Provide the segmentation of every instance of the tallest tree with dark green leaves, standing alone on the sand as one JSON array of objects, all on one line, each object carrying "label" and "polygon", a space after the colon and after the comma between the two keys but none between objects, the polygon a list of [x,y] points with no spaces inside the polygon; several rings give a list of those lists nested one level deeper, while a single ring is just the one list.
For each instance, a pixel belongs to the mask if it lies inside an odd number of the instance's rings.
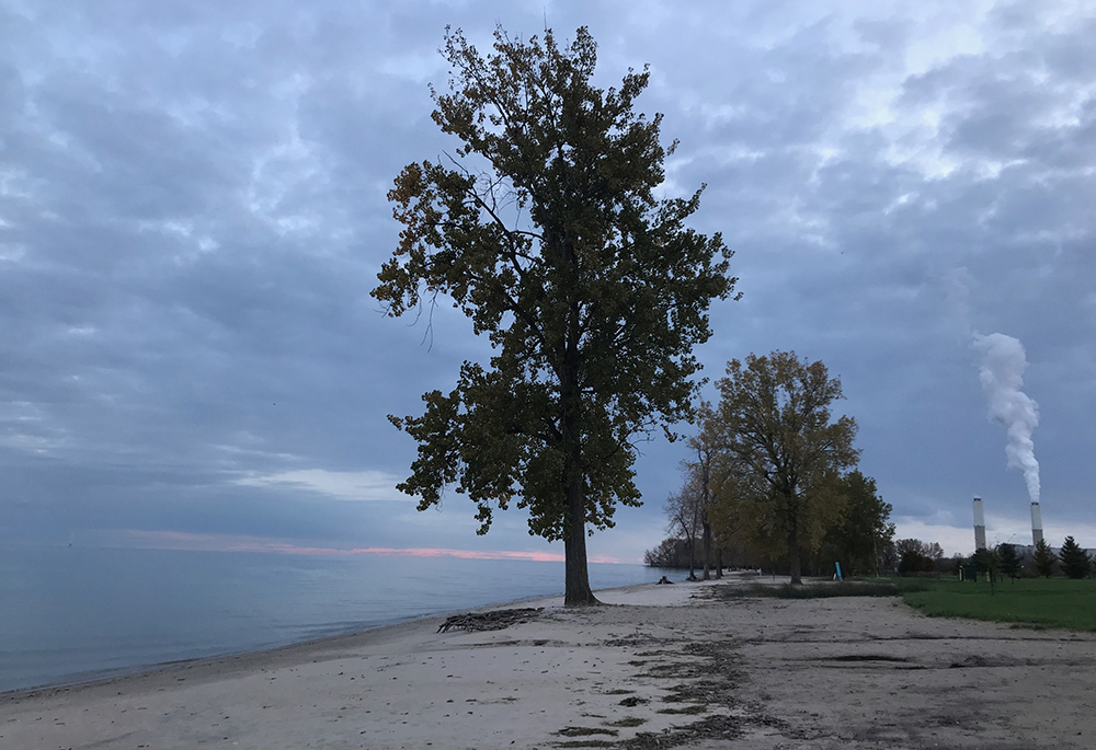
[{"label": "tallest tree with dark green leaves, standing alone on the sand", "polygon": [[495,354],[426,393],[422,416],[390,417],[419,442],[399,487],[425,509],[455,484],[480,533],[516,501],[530,533],[563,540],[567,603],[593,603],[587,524],[639,505],[637,434],[690,416],[693,347],[733,291],[731,253],[685,226],[700,191],[654,196],[673,147],[660,115],[633,111],[646,68],[596,88],[585,28],[564,48],[500,28],[487,57],[447,30],[443,56],[433,118],[459,145],[397,177],[403,229],[373,295],[391,315],[447,295]]}]

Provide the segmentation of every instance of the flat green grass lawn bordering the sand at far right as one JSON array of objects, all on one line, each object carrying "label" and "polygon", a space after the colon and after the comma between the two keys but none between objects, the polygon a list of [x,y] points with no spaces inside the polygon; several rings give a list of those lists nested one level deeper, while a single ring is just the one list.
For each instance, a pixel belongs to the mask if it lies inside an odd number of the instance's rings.
[{"label": "flat green grass lawn bordering the sand at far right", "polygon": [[991,592],[984,581],[941,580],[903,595],[905,603],[933,618],[971,618],[1096,632],[1096,580],[1023,578]]}]

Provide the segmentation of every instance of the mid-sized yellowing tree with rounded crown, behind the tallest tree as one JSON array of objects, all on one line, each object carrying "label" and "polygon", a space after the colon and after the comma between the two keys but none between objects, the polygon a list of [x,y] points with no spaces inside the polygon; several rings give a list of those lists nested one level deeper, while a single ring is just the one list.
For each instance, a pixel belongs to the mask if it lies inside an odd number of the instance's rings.
[{"label": "mid-sized yellowing tree with rounded crown, behind the tallest tree", "polygon": [[801,582],[800,552],[815,550],[843,516],[840,476],[857,462],[856,422],[833,419],[841,380],[794,351],[734,359],[717,383],[720,445],[729,458],[723,518],[788,555]]}]

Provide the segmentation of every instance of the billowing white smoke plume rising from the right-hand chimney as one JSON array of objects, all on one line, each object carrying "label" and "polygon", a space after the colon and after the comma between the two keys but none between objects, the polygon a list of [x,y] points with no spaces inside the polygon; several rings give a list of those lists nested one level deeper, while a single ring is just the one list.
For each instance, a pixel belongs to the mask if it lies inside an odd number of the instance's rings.
[{"label": "billowing white smoke plume rising from the right-hand chimney", "polygon": [[1005,454],[1009,469],[1024,472],[1028,495],[1039,501],[1039,462],[1031,432],[1039,425],[1039,405],[1024,391],[1027,355],[1018,338],[1003,333],[974,334],[973,348],[982,355],[979,379],[990,402],[990,419],[1008,432]]}]

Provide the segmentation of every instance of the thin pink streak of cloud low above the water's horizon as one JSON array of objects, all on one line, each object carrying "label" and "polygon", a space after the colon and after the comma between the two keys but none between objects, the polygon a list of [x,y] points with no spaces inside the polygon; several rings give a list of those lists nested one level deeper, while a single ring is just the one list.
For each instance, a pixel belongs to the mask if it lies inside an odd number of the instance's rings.
[{"label": "thin pink streak of cloud low above the water's horizon", "polygon": [[[562,563],[558,552],[537,550],[450,550],[446,547],[326,547],[305,546],[263,536],[239,536],[231,534],[203,534],[185,531],[140,529],[121,530],[121,539],[127,546],[151,547],[155,550],[191,550],[204,552],[271,552],[286,555],[316,555],[346,557],[354,555],[378,555],[387,557],[458,557],[460,559],[527,559],[541,563]],[[615,557],[592,555],[592,563],[619,563]]]}]

